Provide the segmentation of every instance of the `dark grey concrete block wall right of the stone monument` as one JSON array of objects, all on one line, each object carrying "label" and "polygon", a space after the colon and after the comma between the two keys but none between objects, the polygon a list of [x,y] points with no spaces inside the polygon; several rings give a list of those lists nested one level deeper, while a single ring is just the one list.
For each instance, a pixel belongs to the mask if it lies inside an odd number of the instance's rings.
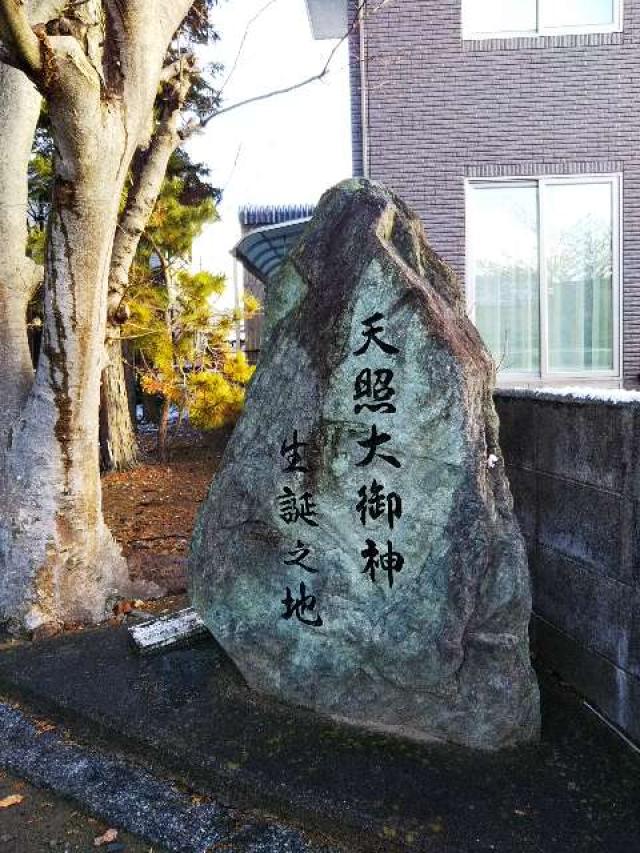
[{"label": "dark grey concrete block wall right of the stone monument", "polygon": [[536,653],[640,743],[640,403],[498,391]]}]

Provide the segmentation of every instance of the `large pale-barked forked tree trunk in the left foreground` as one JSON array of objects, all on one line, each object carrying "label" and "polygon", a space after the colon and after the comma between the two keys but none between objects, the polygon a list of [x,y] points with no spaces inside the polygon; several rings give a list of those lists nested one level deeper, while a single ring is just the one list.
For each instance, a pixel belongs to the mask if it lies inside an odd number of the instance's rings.
[{"label": "large pale-barked forked tree trunk in the left foreground", "polygon": [[[189,6],[87,0],[74,5],[64,35],[36,36],[25,7],[0,0],[0,37],[46,96],[56,148],[42,352],[0,472],[0,621],[16,627],[96,622],[129,592],[101,509],[109,267],[127,170]],[[22,110],[13,100],[5,120]]]}]

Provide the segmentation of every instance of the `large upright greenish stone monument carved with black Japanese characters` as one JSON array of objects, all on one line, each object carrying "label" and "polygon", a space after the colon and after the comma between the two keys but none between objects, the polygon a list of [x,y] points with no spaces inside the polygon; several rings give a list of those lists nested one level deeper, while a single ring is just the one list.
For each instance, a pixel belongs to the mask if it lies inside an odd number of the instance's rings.
[{"label": "large upright greenish stone monument carved with black Japanese characters", "polygon": [[248,684],[413,738],[532,740],[522,536],[494,367],[383,187],[322,198],[200,513],[195,608]]}]

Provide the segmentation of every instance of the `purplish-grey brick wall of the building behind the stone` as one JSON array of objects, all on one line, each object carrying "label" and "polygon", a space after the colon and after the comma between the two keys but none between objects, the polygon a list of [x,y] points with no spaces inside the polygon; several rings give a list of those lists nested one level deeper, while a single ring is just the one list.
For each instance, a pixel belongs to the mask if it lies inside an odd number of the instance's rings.
[{"label": "purplish-grey brick wall of the building behind the stone", "polygon": [[638,386],[640,0],[622,33],[489,41],[462,40],[461,0],[369,5],[364,54],[350,36],[354,171],[414,207],[461,277],[465,178],[622,173],[623,372]]}]

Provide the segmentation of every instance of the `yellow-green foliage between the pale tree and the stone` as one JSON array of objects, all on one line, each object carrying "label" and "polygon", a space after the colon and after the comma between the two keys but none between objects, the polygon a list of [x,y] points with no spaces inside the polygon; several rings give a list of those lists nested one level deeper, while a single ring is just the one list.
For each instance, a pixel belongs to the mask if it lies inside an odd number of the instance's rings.
[{"label": "yellow-green foliage between the pale tree and the stone", "polygon": [[182,179],[167,178],[147,225],[129,280],[129,320],[142,390],[188,413],[203,430],[233,423],[244,402],[253,368],[229,343],[234,324],[260,309],[244,300],[238,316],[216,311],[224,276],[193,272],[188,260],[194,238],[216,218],[211,199],[185,204]]}]

